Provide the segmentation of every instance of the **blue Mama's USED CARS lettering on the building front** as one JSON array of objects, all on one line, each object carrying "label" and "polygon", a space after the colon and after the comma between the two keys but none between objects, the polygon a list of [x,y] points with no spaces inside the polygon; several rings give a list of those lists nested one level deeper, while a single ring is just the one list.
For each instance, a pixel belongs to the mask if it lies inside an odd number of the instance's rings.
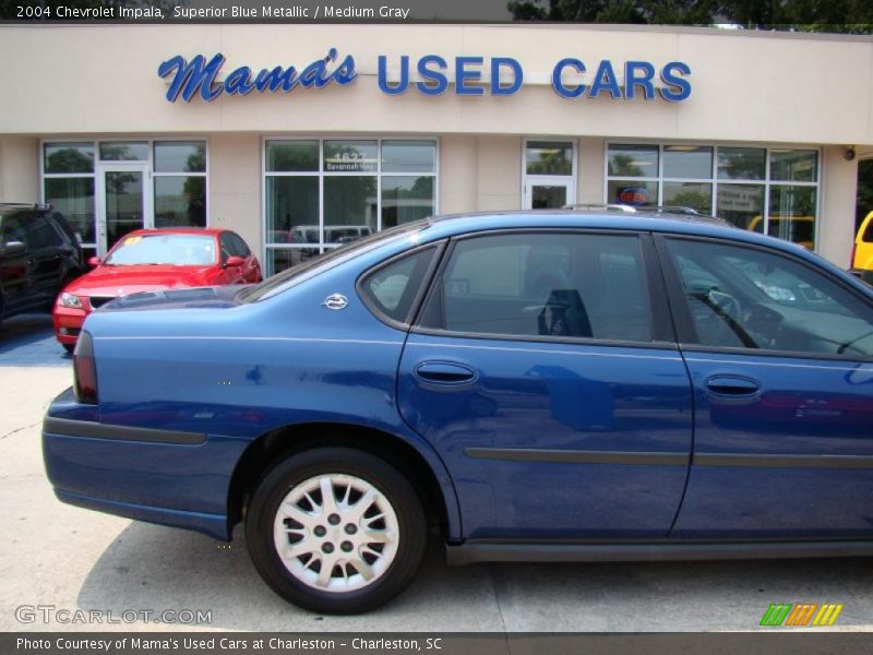
[{"label": "blue Mama's USED CARS lettering on the building front", "polygon": [[[190,61],[177,55],[162,62],[157,74],[169,80],[167,100],[175,103],[181,97],[190,103],[200,96],[208,103],[224,94],[288,94],[297,88],[348,86],[358,80],[355,58],[351,55],[339,58],[336,48],[330,48],[325,57],[302,68],[276,66],[255,72],[241,66],[223,78],[225,61],[219,52],[208,60],[204,55],[196,55]],[[409,55],[391,59],[379,55],[376,63],[376,84],[385,95],[412,92],[436,96],[449,92],[450,83],[454,82],[452,92],[458,96],[511,96],[521,91],[525,78],[521,62],[512,57],[491,57],[486,64],[485,57],[455,57],[450,61],[440,55],[424,55],[412,61]],[[396,68],[391,69],[390,64]],[[415,82],[414,73],[418,78]],[[588,66],[582,59],[569,57],[552,68],[551,86],[559,97],[566,99],[642,97],[679,103],[691,96],[690,75],[691,67],[682,61],[658,68],[649,61],[603,59]]]}]

